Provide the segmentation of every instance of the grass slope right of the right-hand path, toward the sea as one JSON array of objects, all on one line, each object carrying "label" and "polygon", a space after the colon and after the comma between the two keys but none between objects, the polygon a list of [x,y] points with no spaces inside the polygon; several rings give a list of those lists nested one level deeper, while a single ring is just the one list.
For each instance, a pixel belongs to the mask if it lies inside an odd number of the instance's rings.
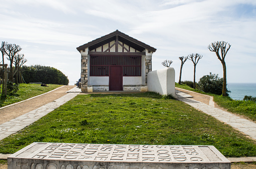
[{"label": "grass slope right of the right-hand path, toward the sea", "polygon": [[214,101],[221,107],[226,108],[228,111],[244,115],[249,119],[256,121],[256,102],[253,101],[243,101],[243,100],[233,100],[229,96],[221,96],[212,93],[205,93],[198,89],[189,87],[188,85],[176,83],[176,87],[200,92],[203,94],[208,94],[214,97]]}]

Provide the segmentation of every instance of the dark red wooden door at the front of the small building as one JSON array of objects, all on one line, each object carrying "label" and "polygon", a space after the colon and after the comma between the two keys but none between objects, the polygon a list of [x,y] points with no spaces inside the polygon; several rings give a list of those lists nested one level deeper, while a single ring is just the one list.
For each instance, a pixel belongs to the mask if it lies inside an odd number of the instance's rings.
[{"label": "dark red wooden door at the front of the small building", "polygon": [[123,90],[122,67],[110,66],[109,90]]}]

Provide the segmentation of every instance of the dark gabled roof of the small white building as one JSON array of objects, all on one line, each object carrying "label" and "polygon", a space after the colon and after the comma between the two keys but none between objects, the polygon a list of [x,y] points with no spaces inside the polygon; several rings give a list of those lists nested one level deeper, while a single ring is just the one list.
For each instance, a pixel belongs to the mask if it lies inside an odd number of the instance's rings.
[{"label": "dark gabled roof of the small white building", "polygon": [[139,51],[143,51],[145,48],[148,49],[149,51],[155,52],[156,48],[151,47],[150,45],[143,43],[119,30],[113,31],[107,35],[104,35],[100,38],[97,38],[93,41],[90,41],[86,44],[80,45],[79,47],[76,47],[76,49],[80,52],[81,50],[86,49],[87,47],[89,47],[89,50],[95,49],[103,44],[106,44],[110,41],[113,41],[116,39],[116,37],[118,36],[118,40],[139,50]]}]

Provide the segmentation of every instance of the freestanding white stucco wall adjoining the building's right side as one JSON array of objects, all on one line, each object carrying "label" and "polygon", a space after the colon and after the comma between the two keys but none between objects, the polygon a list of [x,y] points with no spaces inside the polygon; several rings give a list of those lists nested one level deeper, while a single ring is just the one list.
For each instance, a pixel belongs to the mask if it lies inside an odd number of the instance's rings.
[{"label": "freestanding white stucco wall adjoining the building's right side", "polygon": [[161,95],[175,96],[175,69],[167,67],[150,71],[147,80],[148,91],[154,91]]}]

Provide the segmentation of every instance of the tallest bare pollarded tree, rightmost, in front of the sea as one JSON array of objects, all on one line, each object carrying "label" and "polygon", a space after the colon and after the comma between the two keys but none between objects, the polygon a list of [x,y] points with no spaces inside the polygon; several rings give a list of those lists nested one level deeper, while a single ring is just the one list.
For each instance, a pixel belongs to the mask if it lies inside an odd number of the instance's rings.
[{"label": "tallest bare pollarded tree, rightmost, in front of the sea", "polygon": [[[228,43],[228,46],[227,46],[227,42],[225,42],[225,41],[217,41],[217,42],[215,41],[208,45],[209,50],[214,51],[216,53],[218,59],[222,63],[222,67],[223,67],[222,95],[223,96],[226,96],[226,91],[227,91],[227,73],[226,73],[225,57],[226,57],[227,51],[229,50],[230,47],[231,47],[231,45]],[[220,51],[219,51],[219,49],[220,49]],[[220,54],[221,54],[221,56],[220,56]]]}]

